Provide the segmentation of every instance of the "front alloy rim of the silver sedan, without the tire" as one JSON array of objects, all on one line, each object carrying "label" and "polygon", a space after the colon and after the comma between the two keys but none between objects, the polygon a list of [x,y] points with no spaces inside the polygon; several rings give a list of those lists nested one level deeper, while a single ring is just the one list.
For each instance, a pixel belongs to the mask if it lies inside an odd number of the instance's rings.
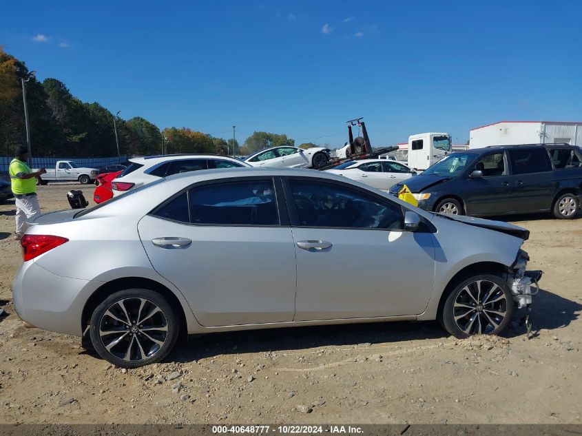
[{"label": "front alloy rim of the silver sedan, without the tire", "polygon": [[468,335],[491,333],[506,318],[507,299],[503,289],[489,280],[470,282],[453,304],[455,323]]}]

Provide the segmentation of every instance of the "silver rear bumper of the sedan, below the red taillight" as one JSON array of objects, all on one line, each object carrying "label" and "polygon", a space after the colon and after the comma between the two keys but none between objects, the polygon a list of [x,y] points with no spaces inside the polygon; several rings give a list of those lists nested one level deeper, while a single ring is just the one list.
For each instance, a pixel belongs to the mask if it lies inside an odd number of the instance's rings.
[{"label": "silver rear bumper of the sedan, below the red taillight", "polygon": [[14,308],[25,324],[81,336],[85,301],[79,296],[99,284],[56,276],[33,261],[23,262],[12,282]]}]

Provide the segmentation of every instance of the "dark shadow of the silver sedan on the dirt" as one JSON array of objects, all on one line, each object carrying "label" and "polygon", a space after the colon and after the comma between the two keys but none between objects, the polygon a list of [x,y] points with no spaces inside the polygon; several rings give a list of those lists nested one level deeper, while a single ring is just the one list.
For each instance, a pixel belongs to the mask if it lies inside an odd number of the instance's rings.
[{"label": "dark shadow of the silver sedan on the dirt", "polygon": [[[553,330],[568,326],[582,311],[582,304],[541,289],[532,304],[533,335],[541,329]],[[526,335],[526,326],[519,320],[525,310],[516,310],[510,328],[501,333],[504,338]],[[445,339],[450,335],[437,321],[376,322],[342,324],[335,326],[287,327],[233,331],[194,335],[180,341],[169,355],[176,362],[194,362],[205,357],[238,353],[266,353],[317,349],[322,346],[357,346],[358,344],[386,344],[424,339]]]}]

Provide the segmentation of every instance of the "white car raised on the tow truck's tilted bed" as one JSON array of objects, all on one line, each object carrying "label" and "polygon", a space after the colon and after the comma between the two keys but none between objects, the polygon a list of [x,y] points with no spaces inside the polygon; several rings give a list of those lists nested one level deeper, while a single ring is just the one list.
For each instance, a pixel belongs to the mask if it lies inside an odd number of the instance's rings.
[{"label": "white car raised on the tow truck's tilted bed", "polygon": [[261,150],[245,159],[253,167],[319,168],[329,161],[329,149],[324,147],[273,147]]}]

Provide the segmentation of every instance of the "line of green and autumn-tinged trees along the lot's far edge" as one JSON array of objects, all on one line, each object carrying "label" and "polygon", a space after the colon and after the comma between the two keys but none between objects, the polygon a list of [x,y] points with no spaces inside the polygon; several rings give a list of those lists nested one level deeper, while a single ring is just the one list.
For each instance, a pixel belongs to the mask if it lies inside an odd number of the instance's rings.
[{"label": "line of green and autumn-tinged trees along the lot's far edge", "polygon": [[[26,144],[21,79],[29,77],[23,61],[0,46],[0,154],[11,156]],[[25,83],[30,137],[34,156],[116,156],[114,114],[99,103],[76,98],[58,79],[42,82],[32,75]],[[246,156],[258,150],[295,145],[285,134],[253,132],[242,145],[230,138],[216,138],[188,127],[160,129],[141,116],[116,118],[122,156],[168,153],[216,153]],[[303,143],[302,148],[313,147]]]}]

